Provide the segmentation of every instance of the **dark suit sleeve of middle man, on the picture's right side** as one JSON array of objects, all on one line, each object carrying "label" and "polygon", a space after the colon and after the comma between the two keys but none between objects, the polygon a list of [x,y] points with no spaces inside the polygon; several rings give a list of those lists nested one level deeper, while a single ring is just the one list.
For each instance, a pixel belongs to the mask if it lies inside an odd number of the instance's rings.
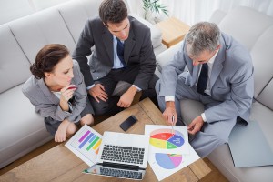
[{"label": "dark suit sleeve of middle man, on the picture's right side", "polygon": [[140,50],[139,62],[140,69],[134,81],[134,85],[141,89],[147,89],[149,81],[152,76],[154,76],[156,70],[156,56],[154,54],[149,29],[144,36],[143,46]]}]

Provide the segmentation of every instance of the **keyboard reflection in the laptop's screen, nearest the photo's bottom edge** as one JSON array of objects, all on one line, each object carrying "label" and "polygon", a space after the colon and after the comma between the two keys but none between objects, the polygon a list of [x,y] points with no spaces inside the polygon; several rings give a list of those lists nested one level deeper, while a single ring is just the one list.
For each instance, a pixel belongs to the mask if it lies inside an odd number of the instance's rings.
[{"label": "keyboard reflection in the laptop's screen, nearest the photo's bottom edge", "polygon": [[110,177],[126,177],[132,179],[142,179],[142,173],[137,171],[127,171],[117,168],[100,167],[100,174]]}]

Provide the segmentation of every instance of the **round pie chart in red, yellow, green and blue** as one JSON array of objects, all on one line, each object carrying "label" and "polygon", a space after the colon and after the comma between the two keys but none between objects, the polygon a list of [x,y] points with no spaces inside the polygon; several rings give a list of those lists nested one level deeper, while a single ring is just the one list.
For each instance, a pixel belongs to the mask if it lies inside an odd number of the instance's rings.
[{"label": "round pie chart in red, yellow, green and blue", "polygon": [[163,149],[174,149],[183,146],[185,140],[182,133],[171,129],[157,129],[150,134],[150,145]]}]

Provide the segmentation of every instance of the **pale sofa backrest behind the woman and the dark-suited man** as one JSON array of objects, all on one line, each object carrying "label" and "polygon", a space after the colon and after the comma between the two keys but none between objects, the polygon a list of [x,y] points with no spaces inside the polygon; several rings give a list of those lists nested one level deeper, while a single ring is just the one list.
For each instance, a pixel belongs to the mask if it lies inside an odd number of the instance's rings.
[{"label": "pale sofa backrest behind the woman and the dark-suited man", "polygon": [[[0,25],[0,93],[25,82],[31,75],[30,64],[44,45],[63,44],[72,53],[87,19],[98,15],[101,2],[71,0]],[[154,25],[146,25],[152,29],[155,49],[162,45],[161,33]]]}]

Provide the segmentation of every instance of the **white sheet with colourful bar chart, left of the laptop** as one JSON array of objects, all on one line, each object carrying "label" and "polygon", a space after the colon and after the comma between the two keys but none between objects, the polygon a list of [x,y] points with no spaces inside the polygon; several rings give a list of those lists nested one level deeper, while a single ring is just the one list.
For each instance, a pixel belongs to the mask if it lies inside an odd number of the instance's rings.
[{"label": "white sheet with colourful bar chart, left of the laptop", "polygon": [[90,167],[96,163],[101,140],[102,136],[96,130],[85,125],[67,141],[66,147]]}]

